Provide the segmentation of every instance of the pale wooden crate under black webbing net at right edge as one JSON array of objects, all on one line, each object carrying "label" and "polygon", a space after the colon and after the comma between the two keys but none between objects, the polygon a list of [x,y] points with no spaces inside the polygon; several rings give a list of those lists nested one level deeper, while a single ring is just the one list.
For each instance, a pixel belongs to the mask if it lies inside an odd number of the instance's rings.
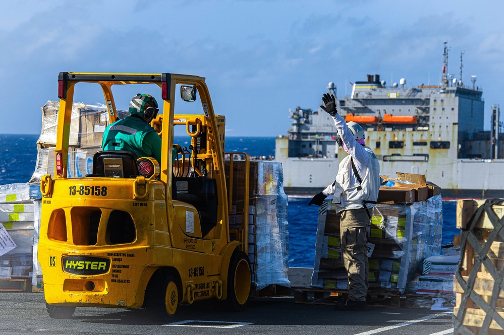
[{"label": "pale wooden crate under black webbing net at right edge", "polygon": [[459,200],[454,334],[504,333],[504,200]]}]

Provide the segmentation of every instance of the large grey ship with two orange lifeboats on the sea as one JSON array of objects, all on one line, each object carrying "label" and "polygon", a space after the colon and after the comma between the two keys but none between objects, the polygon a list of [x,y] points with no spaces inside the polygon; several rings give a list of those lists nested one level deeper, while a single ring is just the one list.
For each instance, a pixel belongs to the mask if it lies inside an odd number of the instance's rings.
[{"label": "large grey ship with two orange lifeboats on the sea", "polygon": [[[499,106],[491,106],[491,129],[484,128],[483,90],[450,78],[448,48],[439,85],[409,86],[404,78],[389,86],[379,75],[352,84],[352,93],[338,98],[340,115],[366,132],[366,145],[380,162],[380,174],[425,174],[442,189],[443,198],[504,197],[504,146],[499,139]],[[297,107],[287,136],[278,136],[275,159],[282,162],[287,194],[313,195],[334,181],[347,155],[334,140],[329,114]]]}]

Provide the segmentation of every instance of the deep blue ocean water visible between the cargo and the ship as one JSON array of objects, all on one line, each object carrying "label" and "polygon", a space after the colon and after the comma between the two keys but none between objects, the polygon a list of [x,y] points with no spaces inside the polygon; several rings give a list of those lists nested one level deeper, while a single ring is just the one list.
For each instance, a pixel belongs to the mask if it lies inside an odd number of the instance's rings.
[{"label": "deep blue ocean water visible between the cargo and the ship", "polygon": [[[0,185],[27,182],[37,161],[38,135],[0,135]],[[175,137],[188,146],[187,138]],[[227,137],[227,152],[247,152],[251,156],[274,156],[275,138]],[[334,171],[335,172],[335,171]],[[309,197],[289,197],[289,266],[313,267],[318,207],[308,206]],[[456,228],[456,202],[443,201],[442,244],[453,241]]]}]

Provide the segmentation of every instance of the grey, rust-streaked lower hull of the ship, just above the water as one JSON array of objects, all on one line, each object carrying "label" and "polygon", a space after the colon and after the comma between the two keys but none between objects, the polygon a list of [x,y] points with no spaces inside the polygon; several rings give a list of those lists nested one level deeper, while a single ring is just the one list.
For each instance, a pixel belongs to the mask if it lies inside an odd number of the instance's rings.
[{"label": "grey, rust-streaked lower hull of the ship, just above the water", "polygon": [[[321,192],[334,181],[338,164],[338,159],[282,161],[286,194],[309,196]],[[427,181],[441,187],[441,196],[445,199],[504,198],[502,159],[380,162],[380,175],[395,178],[396,172],[425,174]]]}]

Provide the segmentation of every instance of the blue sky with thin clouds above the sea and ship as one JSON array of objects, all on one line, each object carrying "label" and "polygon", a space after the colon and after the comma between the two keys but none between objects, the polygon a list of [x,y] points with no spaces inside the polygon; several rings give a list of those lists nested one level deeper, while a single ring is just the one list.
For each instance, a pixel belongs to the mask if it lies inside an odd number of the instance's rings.
[{"label": "blue sky with thin clouds above the sea and ship", "polygon": [[289,108],[316,108],[328,82],[338,97],[367,74],[438,84],[443,42],[456,78],[464,51],[462,80],[477,76],[485,114],[504,106],[499,0],[1,2],[0,133],[40,133],[59,72],[173,72],[206,78],[228,136],[277,136]]}]

